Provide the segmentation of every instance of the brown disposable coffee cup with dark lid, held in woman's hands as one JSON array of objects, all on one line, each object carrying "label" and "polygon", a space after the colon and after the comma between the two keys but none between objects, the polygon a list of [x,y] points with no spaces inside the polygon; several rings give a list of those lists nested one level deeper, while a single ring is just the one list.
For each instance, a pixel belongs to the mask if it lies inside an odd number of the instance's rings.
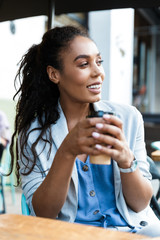
[{"label": "brown disposable coffee cup with dark lid, held in woman's hands", "polygon": [[[89,115],[87,117],[88,118],[103,117],[104,114],[115,115],[113,112],[94,111],[94,112],[91,113],[91,115]],[[90,163],[110,165],[111,164],[111,157],[106,155],[106,154],[100,154],[100,155],[97,155],[97,156],[90,155]]]}]

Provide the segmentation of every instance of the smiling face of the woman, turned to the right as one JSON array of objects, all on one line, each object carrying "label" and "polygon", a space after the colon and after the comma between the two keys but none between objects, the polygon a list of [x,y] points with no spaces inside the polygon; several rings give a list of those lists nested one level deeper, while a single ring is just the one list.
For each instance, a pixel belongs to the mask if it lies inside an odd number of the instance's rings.
[{"label": "smiling face of the woman, turned to the right", "polygon": [[93,41],[78,36],[61,53],[63,71],[58,87],[61,101],[93,103],[101,99],[104,80],[101,55]]}]

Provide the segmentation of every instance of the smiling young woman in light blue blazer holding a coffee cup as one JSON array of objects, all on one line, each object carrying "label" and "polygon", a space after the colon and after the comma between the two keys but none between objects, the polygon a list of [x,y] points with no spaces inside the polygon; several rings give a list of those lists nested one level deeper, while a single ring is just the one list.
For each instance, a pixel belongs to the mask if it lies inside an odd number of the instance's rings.
[{"label": "smiling young woman in light blue blazer holding a coffee cup", "polygon": [[[31,214],[159,236],[141,114],[100,101],[105,74],[88,35],[72,26],[49,30],[17,76],[11,147],[18,134],[17,177]],[[86,118],[97,110],[116,116]],[[110,165],[90,163],[102,153]]]}]

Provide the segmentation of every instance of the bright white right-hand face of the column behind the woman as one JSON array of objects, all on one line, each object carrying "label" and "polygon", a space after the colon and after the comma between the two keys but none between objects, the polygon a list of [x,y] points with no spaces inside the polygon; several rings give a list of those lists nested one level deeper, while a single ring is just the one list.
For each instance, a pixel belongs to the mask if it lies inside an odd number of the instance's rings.
[{"label": "bright white right-hand face of the column behind the woman", "polygon": [[134,10],[111,11],[109,100],[132,104]]}]

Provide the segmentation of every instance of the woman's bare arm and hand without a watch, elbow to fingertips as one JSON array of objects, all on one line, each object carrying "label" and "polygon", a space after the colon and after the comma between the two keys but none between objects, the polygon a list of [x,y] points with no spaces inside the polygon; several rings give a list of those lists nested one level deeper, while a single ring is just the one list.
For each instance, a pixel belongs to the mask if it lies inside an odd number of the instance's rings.
[{"label": "woman's bare arm and hand without a watch, elbow to fingertips", "polygon": [[[98,150],[91,147],[95,143],[91,138],[95,121],[98,119],[85,119],[69,132],[54,157],[48,175],[43,181],[41,180],[41,184],[35,187],[34,181],[37,181],[38,175],[30,176],[32,183],[28,189],[33,186],[35,188],[32,204],[37,216],[56,218],[66,201],[76,156],[82,153],[99,154]],[[27,192],[25,183],[23,186]],[[27,196],[29,195],[31,193],[28,192]]]}]

